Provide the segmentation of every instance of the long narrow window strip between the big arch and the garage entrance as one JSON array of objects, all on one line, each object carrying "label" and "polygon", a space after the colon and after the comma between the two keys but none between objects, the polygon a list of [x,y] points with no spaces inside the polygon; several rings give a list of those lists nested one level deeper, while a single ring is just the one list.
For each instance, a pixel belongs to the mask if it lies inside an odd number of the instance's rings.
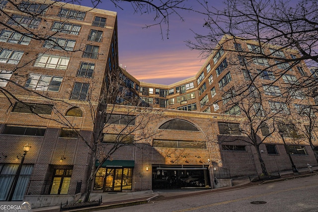
[{"label": "long narrow window strip between the big arch and the garage entrance", "polygon": [[207,144],[204,141],[167,141],[167,140],[155,140],[153,141],[154,147],[159,148],[194,148],[194,149],[206,149]]}]

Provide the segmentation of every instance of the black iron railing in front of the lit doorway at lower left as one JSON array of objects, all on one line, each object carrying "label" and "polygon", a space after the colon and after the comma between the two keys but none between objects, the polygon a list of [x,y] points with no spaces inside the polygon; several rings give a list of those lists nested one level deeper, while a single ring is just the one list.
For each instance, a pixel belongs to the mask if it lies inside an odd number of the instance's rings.
[{"label": "black iron railing in front of the lit doorway at lower left", "polygon": [[[50,195],[52,188],[52,181],[37,181],[30,180],[26,188],[26,195]],[[70,181],[69,189],[67,191],[68,195],[75,195],[80,193],[81,181]],[[60,191],[57,194],[61,194]],[[52,193],[56,194],[56,192]]]}]

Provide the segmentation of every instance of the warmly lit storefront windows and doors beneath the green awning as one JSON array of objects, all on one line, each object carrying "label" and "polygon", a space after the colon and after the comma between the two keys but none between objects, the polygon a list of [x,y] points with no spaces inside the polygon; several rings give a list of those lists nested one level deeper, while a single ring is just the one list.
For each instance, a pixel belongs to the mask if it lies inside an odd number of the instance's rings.
[{"label": "warmly lit storefront windows and doors beneath the green awning", "polygon": [[133,168],[100,167],[95,176],[95,191],[132,190]]}]

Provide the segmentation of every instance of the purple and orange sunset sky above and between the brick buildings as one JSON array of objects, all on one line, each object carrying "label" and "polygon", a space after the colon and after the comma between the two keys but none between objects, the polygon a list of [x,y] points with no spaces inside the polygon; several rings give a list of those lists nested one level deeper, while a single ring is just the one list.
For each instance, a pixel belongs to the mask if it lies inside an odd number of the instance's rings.
[{"label": "purple and orange sunset sky above and between the brick buildings", "polygon": [[[187,1],[188,4],[195,2]],[[82,5],[92,6],[88,2]],[[185,41],[194,40],[190,29],[203,30],[203,16],[181,11],[184,22],[171,16],[169,37],[167,39],[164,34],[162,40],[158,26],[143,29],[146,24],[154,23],[154,13],[134,14],[128,2],[122,2],[120,6],[124,10],[116,8],[109,0],[103,0],[97,8],[117,12],[119,63],[127,67],[126,71],[143,82],[171,84],[192,77],[200,70],[205,59],[200,57],[199,51],[190,50]],[[166,25],[162,30],[166,33]]]}]

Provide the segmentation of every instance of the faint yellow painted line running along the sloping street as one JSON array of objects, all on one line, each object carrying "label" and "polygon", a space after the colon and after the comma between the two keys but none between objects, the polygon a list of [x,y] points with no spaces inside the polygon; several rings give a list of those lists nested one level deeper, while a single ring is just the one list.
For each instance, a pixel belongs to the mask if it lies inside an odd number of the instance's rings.
[{"label": "faint yellow painted line running along the sloping street", "polygon": [[235,202],[239,202],[242,200],[252,199],[255,197],[262,197],[262,196],[266,196],[266,195],[278,194],[278,193],[285,192],[285,191],[303,189],[303,188],[312,187],[312,186],[318,186],[318,183],[310,184],[308,186],[300,186],[300,187],[296,187],[296,188],[290,188],[290,189],[284,189],[284,190],[279,190],[279,191],[275,191],[275,192],[269,192],[266,194],[259,194],[259,195],[254,195],[254,196],[250,196],[250,197],[239,198],[239,199],[235,199],[235,200],[228,200],[228,201],[224,201],[224,202],[220,202],[220,203],[213,203],[213,204],[209,204],[209,205],[205,205],[205,206],[198,206],[198,207],[194,207],[194,208],[178,210],[178,211],[174,211],[174,212],[187,212],[187,211],[192,211],[192,210],[197,210],[197,209],[204,209],[204,208],[208,208],[208,207],[212,207],[212,206],[219,206],[219,205],[224,205],[224,204],[228,204],[228,203],[235,203]]}]

